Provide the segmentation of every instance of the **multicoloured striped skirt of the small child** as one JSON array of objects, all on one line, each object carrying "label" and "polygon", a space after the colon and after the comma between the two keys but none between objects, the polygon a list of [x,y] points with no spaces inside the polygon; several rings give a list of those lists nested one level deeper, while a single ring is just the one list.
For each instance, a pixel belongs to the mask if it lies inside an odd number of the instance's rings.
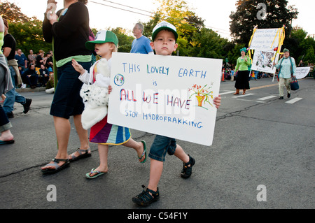
[{"label": "multicoloured striped skirt of the small child", "polygon": [[130,129],[107,123],[107,115],[90,129],[91,143],[121,145],[126,143],[130,138]]}]

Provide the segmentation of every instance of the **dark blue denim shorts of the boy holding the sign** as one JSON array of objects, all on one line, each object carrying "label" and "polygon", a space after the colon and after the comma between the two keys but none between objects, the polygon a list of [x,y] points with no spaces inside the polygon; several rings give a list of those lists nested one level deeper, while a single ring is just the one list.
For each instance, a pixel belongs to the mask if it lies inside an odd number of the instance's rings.
[{"label": "dark blue denim shorts of the boy holding the sign", "polygon": [[176,139],[156,135],[150,148],[149,157],[158,161],[165,161],[165,155],[173,155],[176,150]]}]

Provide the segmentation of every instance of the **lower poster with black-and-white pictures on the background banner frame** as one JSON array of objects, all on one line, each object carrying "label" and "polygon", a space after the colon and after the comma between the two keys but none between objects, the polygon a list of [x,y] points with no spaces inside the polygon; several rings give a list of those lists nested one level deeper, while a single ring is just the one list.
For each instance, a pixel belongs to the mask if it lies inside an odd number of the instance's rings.
[{"label": "lower poster with black-and-white pictures on the background banner frame", "polygon": [[[276,55],[276,51],[262,51],[255,50],[253,55],[253,64],[251,69],[253,71],[261,71],[266,73],[276,73],[276,67],[273,65],[272,58]],[[276,61],[279,55],[276,55]]]}]

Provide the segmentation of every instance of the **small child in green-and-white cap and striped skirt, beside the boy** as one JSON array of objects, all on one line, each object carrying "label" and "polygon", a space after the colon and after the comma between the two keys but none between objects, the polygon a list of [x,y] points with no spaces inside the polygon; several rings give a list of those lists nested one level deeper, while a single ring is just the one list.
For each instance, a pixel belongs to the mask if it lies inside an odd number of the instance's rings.
[{"label": "small child in green-and-white cap and striped skirt, beside the boy", "polygon": [[[99,150],[99,166],[92,168],[90,173],[86,173],[85,177],[94,179],[109,171],[107,164],[109,145],[125,145],[136,150],[139,161],[146,161],[146,142],[136,142],[131,138],[130,129],[120,127],[116,124],[107,122],[107,106],[109,99],[109,84],[111,80],[111,56],[113,52],[117,52],[118,38],[112,31],[101,30],[97,33],[95,41],[89,41],[85,44],[87,49],[95,50],[97,55],[102,57],[93,64],[90,73],[85,71],[83,67],[73,59],[73,67],[81,75],[79,79],[84,82],[83,97],[86,87],[91,86],[97,89],[100,94],[94,94],[92,89],[88,93],[89,96],[85,102],[85,110],[82,114],[82,124],[85,129],[90,129],[90,142],[97,143]],[[86,115],[86,116],[85,116]]]}]

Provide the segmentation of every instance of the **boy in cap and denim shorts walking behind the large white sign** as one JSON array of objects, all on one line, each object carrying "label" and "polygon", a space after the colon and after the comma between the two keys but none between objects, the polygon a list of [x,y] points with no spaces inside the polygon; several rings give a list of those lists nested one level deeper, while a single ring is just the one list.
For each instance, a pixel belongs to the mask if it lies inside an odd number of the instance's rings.
[{"label": "boy in cap and denim shorts walking behind the large white sign", "polygon": [[[151,47],[155,50],[156,55],[172,55],[172,52],[177,49],[176,40],[178,34],[176,27],[169,24],[169,22],[160,22],[153,29]],[[216,108],[220,106],[221,97],[215,97],[214,104]],[[176,144],[175,138],[169,138],[167,136],[155,136],[153,145],[151,145],[150,154],[148,157],[151,158],[151,169],[150,179],[148,187],[144,188],[143,192],[139,195],[134,196],[132,201],[140,206],[148,206],[154,201],[158,201],[160,192],[158,189],[158,182],[160,181],[163,169],[163,162],[165,161],[165,155],[174,154],[176,157],[183,161],[183,170],[181,171],[182,178],[189,178],[192,173],[195,159],[190,157],[189,154],[184,152],[180,145]]]}]

